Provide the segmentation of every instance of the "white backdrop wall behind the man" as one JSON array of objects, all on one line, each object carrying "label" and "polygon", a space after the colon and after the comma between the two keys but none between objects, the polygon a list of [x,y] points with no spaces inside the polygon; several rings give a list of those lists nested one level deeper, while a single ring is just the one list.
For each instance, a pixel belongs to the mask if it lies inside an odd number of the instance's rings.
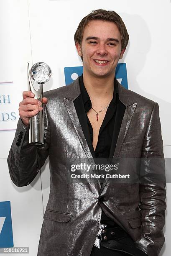
[{"label": "white backdrop wall behind the man", "polygon": [[[80,20],[94,9],[115,10],[130,35],[125,56],[128,88],[158,102],[166,158],[171,158],[170,0],[1,0],[0,1],[0,202],[11,202],[14,246],[35,256],[50,189],[48,161],[36,179],[18,188],[10,180],[7,157],[17,125],[18,104],[27,90],[26,62],[46,62],[51,90],[65,85],[64,67],[82,66],[74,46]],[[5,96],[3,96],[5,95]],[[9,95],[9,96],[8,96]],[[6,114],[5,114],[6,113]],[[166,242],[170,255],[171,186],[167,184]],[[1,232],[1,230],[0,230]]]}]

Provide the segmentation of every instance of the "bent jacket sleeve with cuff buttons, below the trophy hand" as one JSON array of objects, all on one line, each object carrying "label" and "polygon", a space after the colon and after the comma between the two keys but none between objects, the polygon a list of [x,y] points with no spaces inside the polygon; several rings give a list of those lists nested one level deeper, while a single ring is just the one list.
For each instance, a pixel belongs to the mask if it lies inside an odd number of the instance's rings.
[{"label": "bent jacket sleeve with cuff buttons, below the trophy hand", "polygon": [[18,120],[15,137],[8,155],[8,168],[13,183],[18,187],[30,184],[48,157],[50,127],[46,105],[43,106],[45,143],[29,144],[29,126]]}]

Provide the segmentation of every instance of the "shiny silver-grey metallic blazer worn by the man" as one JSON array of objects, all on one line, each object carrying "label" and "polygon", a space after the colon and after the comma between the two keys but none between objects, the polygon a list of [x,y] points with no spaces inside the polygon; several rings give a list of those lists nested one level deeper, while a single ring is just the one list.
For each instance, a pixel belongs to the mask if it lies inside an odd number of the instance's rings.
[{"label": "shiny silver-grey metallic blazer worn by the man", "polygon": [[[113,158],[162,159],[158,104],[126,90],[119,82],[118,90],[126,109]],[[79,94],[79,79],[44,93],[48,98],[44,108],[45,144],[29,145],[28,127],[19,120],[9,152],[10,177],[18,187],[30,184],[49,156],[50,195],[38,256],[89,256],[100,226],[101,208],[139,249],[148,256],[158,256],[164,243],[165,182],[152,184],[147,179],[143,184],[111,184],[105,179],[101,187],[98,180],[70,178],[71,159],[90,164],[92,158],[74,108]],[[20,132],[23,135],[16,146]],[[162,165],[160,169],[164,174]],[[146,171],[149,174],[155,170],[147,165]],[[105,198],[102,203],[98,202],[100,195]]]}]

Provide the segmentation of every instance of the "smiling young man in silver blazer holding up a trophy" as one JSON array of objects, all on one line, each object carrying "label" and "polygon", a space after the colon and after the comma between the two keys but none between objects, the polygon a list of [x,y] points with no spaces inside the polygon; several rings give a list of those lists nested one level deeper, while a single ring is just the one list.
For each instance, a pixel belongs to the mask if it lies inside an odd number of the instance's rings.
[{"label": "smiling young man in silver blazer holding up a trophy", "polygon": [[[87,164],[91,158],[163,159],[158,104],[115,79],[128,39],[123,20],[114,11],[95,10],[82,19],[74,40],[83,75],[69,86],[44,93],[42,146],[28,142],[29,118],[42,110],[41,102],[23,92],[8,165],[13,182],[26,186],[49,156],[51,191],[40,256],[158,256],[163,246],[165,182],[149,182],[154,170],[148,164],[148,178],[141,184],[67,178],[70,159]],[[162,164],[159,169],[164,174]],[[126,170],[129,174],[131,167]]]}]

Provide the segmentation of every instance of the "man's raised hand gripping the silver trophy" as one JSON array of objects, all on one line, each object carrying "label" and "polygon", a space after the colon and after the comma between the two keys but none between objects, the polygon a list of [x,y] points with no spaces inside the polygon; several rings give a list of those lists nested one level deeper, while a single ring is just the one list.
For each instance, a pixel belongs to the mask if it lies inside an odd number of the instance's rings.
[{"label": "man's raised hand gripping the silver trophy", "polygon": [[[47,98],[42,98],[43,104],[47,104]],[[19,115],[25,125],[29,124],[29,119],[39,111],[42,111],[42,102],[34,99],[34,94],[31,91],[23,92],[23,100],[19,104]]]}]

